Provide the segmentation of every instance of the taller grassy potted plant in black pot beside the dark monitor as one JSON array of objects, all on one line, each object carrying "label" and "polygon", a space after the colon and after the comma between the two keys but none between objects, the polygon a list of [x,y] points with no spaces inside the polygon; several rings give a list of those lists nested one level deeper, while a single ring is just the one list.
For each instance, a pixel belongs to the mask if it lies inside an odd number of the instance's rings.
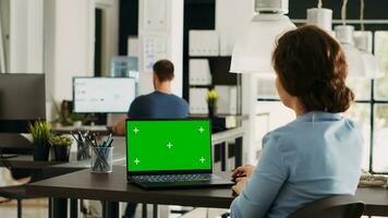
[{"label": "taller grassy potted plant in black pot beside the dark monitor", "polygon": [[50,152],[50,123],[40,120],[28,123],[28,132],[32,134],[35,145],[33,149],[34,160],[47,161]]}]

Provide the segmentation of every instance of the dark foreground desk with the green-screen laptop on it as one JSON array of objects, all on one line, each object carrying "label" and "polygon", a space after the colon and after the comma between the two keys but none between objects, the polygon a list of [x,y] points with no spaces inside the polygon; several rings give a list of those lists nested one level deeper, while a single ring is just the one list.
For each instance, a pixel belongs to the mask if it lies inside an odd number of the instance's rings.
[{"label": "dark foreground desk with the green-screen laptop on it", "polygon": [[[126,183],[123,166],[114,166],[111,174],[93,174],[89,170],[82,170],[35,182],[27,185],[27,193],[49,197],[216,208],[229,208],[234,198],[230,189],[145,191]],[[365,215],[388,216],[387,190],[363,187],[357,190],[356,197],[366,204]],[[116,204],[110,206],[118,209]]]}]

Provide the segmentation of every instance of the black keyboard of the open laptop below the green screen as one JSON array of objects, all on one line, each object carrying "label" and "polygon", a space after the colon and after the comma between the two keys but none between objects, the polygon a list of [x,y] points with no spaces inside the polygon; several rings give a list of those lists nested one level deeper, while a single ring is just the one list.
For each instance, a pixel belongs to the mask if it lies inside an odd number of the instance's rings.
[{"label": "black keyboard of the open laptop below the green screen", "polygon": [[133,180],[138,182],[196,182],[209,181],[211,174],[153,174],[153,175],[133,175]]}]

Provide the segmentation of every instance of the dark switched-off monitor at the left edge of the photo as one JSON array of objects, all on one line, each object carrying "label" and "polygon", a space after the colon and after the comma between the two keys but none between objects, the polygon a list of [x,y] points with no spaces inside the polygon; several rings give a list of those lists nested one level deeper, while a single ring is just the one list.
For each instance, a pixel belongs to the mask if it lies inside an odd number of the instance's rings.
[{"label": "dark switched-off monitor at the left edge of the photo", "polygon": [[0,133],[26,133],[46,120],[45,74],[0,74]]}]

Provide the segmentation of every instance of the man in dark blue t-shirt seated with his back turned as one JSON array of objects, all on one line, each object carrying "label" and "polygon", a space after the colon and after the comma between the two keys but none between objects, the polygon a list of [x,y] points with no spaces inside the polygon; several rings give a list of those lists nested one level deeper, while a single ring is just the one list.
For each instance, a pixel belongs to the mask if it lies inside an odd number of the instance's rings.
[{"label": "man in dark blue t-shirt seated with his back turned", "polygon": [[[155,92],[137,97],[130,106],[126,118],[133,119],[174,119],[187,118],[187,102],[171,94],[173,64],[169,60],[159,60],[154,64],[153,82]],[[126,119],[125,118],[125,119]],[[114,123],[112,133],[125,134],[125,119]],[[124,217],[133,217],[137,204],[129,204]]]}]

